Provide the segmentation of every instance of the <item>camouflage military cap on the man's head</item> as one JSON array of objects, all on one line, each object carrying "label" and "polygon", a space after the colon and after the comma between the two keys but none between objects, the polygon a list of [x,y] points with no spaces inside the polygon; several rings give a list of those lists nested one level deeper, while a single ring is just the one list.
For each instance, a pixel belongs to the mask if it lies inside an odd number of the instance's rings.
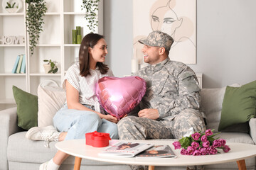
[{"label": "camouflage military cap on the man's head", "polygon": [[170,51],[174,39],[166,33],[155,30],[149,33],[147,38],[142,38],[139,42],[152,47],[164,47],[166,51]]}]

